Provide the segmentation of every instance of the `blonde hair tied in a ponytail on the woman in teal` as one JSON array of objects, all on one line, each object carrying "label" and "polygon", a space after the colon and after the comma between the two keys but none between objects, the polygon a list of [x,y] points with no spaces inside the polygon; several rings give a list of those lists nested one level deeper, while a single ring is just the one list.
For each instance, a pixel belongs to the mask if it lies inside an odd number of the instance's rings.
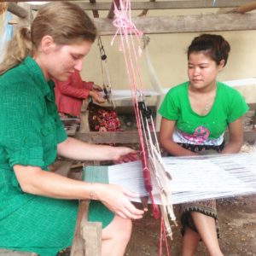
[{"label": "blonde hair tied in a ponytail on the woman in teal", "polygon": [[38,10],[32,21],[31,31],[22,27],[9,42],[0,75],[19,64],[27,55],[33,55],[42,38],[49,35],[55,44],[74,44],[85,40],[94,42],[96,26],[78,5],[68,2],[52,2]]}]

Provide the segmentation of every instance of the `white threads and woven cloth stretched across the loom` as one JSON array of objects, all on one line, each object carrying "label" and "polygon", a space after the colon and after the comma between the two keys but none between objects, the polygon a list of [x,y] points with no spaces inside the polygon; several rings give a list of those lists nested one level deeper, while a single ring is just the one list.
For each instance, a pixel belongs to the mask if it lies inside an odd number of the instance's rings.
[{"label": "white threads and woven cloth stretched across the loom", "polygon": [[[240,154],[212,154],[186,157],[164,157],[172,201],[189,201],[256,194],[256,152]],[[147,195],[143,186],[141,161],[114,166],[86,166],[84,180],[113,183]],[[154,202],[160,204],[160,189],[152,174]],[[140,201],[132,198],[131,201]],[[149,201],[150,203],[150,201]]]}]

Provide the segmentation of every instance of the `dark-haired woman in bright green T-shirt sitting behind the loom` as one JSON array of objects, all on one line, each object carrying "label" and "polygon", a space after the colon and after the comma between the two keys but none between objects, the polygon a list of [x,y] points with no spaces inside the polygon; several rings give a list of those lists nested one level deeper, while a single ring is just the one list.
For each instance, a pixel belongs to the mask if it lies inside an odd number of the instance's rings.
[{"label": "dark-haired woman in bright green T-shirt sitting behind the loom", "polygon": [[[169,154],[239,152],[247,104],[238,91],[217,81],[229,52],[230,44],[220,35],[202,34],[190,44],[189,81],[169,90],[159,109],[160,144]],[[224,142],[226,128],[230,133],[228,143]],[[183,204],[181,222],[183,256],[194,255],[200,240],[210,255],[222,255],[214,200]]]}]

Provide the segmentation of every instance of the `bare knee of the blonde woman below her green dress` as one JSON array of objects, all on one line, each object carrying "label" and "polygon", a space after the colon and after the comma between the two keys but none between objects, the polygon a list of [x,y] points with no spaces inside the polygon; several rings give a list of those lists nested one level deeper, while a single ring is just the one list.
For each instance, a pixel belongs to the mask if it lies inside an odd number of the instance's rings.
[{"label": "bare knee of the blonde woman below her green dress", "polygon": [[102,230],[102,256],[123,256],[131,237],[131,219],[114,216],[113,221]]}]

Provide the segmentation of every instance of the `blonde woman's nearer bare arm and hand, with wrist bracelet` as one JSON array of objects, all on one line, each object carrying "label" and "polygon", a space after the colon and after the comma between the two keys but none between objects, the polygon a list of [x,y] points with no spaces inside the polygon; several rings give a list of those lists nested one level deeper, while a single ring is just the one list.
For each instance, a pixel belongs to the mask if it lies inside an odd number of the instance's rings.
[{"label": "blonde woman's nearer bare arm and hand, with wrist bracelet", "polygon": [[122,218],[143,217],[143,211],[134,207],[128,199],[137,195],[119,186],[76,181],[36,166],[15,165],[14,171],[20,188],[26,193],[69,200],[99,200]]}]

